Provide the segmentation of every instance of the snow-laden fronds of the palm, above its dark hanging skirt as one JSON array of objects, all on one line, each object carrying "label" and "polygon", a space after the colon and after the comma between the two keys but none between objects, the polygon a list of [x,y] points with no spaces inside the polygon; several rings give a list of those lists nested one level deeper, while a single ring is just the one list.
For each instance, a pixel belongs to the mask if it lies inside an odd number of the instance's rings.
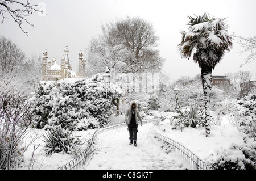
[{"label": "snow-laden fronds of the palm, above its dark hanging skirt", "polygon": [[230,50],[232,37],[228,33],[226,18],[210,18],[203,16],[188,16],[190,19],[188,32],[181,31],[182,41],[179,50],[182,57],[190,58],[194,49],[212,48],[216,51]]}]

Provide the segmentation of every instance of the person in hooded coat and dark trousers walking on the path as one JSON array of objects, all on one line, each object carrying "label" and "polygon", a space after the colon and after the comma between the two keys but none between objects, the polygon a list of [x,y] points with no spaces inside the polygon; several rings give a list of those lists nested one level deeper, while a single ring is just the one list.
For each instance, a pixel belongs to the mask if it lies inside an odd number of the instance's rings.
[{"label": "person in hooded coat and dark trousers walking on the path", "polygon": [[138,105],[135,101],[130,103],[130,108],[125,112],[125,123],[129,129],[130,145],[137,146],[137,132],[139,121],[142,125],[141,115],[139,115]]}]

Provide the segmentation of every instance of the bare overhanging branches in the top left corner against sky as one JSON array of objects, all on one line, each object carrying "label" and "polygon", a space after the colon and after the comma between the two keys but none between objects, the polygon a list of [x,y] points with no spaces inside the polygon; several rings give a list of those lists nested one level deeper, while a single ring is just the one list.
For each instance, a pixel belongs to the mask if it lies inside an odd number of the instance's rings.
[{"label": "bare overhanging branches in the top left corner against sky", "polygon": [[34,27],[34,24],[28,22],[27,17],[32,14],[32,12],[40,12],[44,14],[43,10],[37,10],[38,5],[31,5],[28,0],[26,2],[19,2],[16,0],[0,0],[0,15],[2,15],[2,23],[8,18],[7,15],[11,16],[18,24],[19,28],[28,35],[28,32],[24,31],[22,28],[22,23],[26,22]]}]

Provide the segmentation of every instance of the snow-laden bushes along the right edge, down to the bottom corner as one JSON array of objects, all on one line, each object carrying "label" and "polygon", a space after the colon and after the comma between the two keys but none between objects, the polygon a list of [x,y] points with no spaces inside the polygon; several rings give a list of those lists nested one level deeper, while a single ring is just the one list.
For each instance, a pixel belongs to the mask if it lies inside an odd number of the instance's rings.
[{"label": "snow-laden bushes along the right edge, down to the bottom corner", "polygon": [[213,169],[256,170],[256,95],[250,94],[229,105],[230,113],[225,113],[238,131],[245,133],[244,142],[215,151],[208,159],[209,165]]}]

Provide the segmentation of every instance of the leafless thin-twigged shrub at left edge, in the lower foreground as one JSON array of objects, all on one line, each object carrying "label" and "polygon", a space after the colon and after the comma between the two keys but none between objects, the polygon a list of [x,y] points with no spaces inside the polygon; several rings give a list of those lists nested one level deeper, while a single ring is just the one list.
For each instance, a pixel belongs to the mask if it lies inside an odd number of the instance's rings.
[{"label": "leafless thin-twigged shrub at left edge, in the lower foreground", "polygon": [[[16,169],[20,158],[27,150],[22,145],[23,138],[28,134],[34,113],[31,103],[23,95],[13,92],[0,94],[0,169]],[[35,141],[32,138],[30,144]]]}]

